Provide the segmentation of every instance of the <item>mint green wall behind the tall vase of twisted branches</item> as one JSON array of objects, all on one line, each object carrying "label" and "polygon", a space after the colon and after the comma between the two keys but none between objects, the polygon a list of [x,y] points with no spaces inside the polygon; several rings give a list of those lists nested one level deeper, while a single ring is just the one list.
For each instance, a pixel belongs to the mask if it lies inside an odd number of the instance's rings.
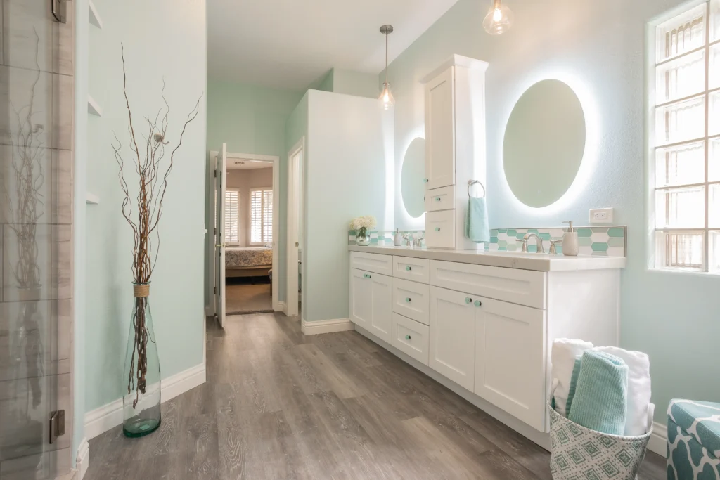
[{"label": "mint green wall behind the tall vase of twisted branches", "polygon": [[[144,131],[140,127],[143,116],[154,117],[162,106],[163,78],[171,107],[171,145],[177,144],[196,99],[204,95],[168,179],[160,253],[150,288],[163,378],[203,363],[204,335],[205,2],[96,0],[95,4],[104,26],[102,30],[92,27],[90,32],[89,92],[101,105],[103,116],[89,119],[83,139],[88,144],[87,189],[100,196],[99,205],[86,207],[86,411],[122,395],[132,306],[132,232],[120,214],[118,167],[110,147],[113,131],[117,132],[130,163],[120,42],[125,43],[127,91],[140,132]],[[131,189],[132,171],[132,166],[126,168]]]}]

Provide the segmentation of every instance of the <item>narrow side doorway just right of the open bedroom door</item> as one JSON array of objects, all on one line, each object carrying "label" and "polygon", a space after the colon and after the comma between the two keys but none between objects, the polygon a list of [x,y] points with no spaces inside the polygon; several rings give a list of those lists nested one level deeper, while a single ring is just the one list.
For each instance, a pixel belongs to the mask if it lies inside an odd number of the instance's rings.
[{"label": "narrow side doorway just right of the open bedroom door", "polygon": [[[303,225],[305,224],[305,137],[287,154],[287,311],[289,317],[302,312]],[[294,272],[297,271],[297,275]]]}]

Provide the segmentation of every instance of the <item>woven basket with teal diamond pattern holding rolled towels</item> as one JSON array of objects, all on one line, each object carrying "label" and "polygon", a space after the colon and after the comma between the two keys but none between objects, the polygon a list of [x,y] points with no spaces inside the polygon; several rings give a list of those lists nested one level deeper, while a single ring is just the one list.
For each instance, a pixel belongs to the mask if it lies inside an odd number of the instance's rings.
[{"label": "woven basket with teal diamond pattern holding rolled towels", "polygon": [[640,469],[652,430],[639,437],[596,432],[550,413],[550,471],[554,480],[633,480]]}]

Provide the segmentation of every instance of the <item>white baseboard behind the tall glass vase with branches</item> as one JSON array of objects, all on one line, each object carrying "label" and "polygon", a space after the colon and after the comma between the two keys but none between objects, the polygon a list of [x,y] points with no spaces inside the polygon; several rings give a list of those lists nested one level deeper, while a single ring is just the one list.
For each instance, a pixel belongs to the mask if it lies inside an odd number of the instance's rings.
[{"label": "white baseboard behind the tall glass vase with branches", "polygon": [[[205,383],[205,365],[188,368],[162,381],[161,399],[163,402],[174,399],[179,394]],[[122,424],[122,399],[96,408],[85,414],[85,436],[95,438],[113,427]]]}]

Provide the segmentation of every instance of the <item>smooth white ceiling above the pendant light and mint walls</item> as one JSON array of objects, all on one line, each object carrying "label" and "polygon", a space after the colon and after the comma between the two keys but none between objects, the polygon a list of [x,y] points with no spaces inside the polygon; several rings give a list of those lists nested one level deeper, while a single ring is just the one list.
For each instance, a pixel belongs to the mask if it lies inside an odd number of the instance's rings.
[{"label": "smooth white ceiling above the pendant light and mint walls", "polygon": [[210,0],[210,78],[303,90],[330,68],[380,73],[457,0]]}]

